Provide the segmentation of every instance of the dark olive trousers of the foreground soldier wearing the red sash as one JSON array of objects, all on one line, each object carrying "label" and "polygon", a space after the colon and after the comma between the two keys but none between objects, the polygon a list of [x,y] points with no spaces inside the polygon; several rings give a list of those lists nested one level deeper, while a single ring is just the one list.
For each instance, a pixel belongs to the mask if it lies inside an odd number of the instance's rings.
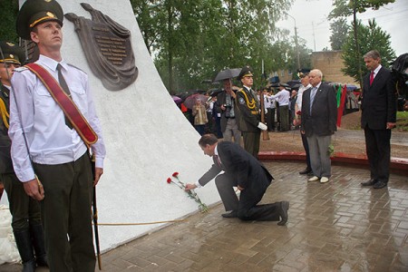
[{"label": "dark olive trousers of the foreground soldier wearing the red sash", "polygon": [[34,170],[44,186],[41,211],[50,271],[94,271],[92,169],[88,153],[63,164],[34,163]]}]

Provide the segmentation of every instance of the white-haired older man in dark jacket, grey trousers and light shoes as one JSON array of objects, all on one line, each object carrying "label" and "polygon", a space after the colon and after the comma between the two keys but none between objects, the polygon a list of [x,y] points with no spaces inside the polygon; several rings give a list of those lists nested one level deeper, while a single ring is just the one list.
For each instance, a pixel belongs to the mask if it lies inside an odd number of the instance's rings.
[{"label": "white-haired older man in dark jacket, grey trousers and light shoes", "polygon": [[301,133],[307,137],[314,174],[308,181],[325,183],[332,175],[328,147],[337,131],[337,102],[335,89],[322,83],[322,77],[323,73],[317,69],[309,73],[312,88],[302,95]]}]

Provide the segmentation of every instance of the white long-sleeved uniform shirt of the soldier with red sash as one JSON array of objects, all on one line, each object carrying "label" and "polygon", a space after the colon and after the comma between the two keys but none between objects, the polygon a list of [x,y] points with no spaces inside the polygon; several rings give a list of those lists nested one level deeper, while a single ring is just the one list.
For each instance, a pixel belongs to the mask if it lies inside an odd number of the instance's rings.
[{"label": "white long-sleeved uniform shirt of the soldier with red sash", "polygon": [[[36,63],[42,65],[58,82],[57,62],[40,55]],[[96,167],[103,168],[106,151],[101,124],[90,93],[88,75],[64,61],[61,65],[73,102],[98,135],[98,141],[92,144],[92,153],[95,154]],[[11,154],[17,178],[23,182],[34,179],[30,157],[36,163],[55,165],[83,156],[87,151],[86,145],[74,129],[70,130],[65,125],[63,110],[40,79],[27,68],[21,67],[16,69],[12,83],[14,92],[10,96],[8,132],[12,140]],[[18,112],[21,112],[20,117]],[[30,156],[27,154],[22,128]]]}]

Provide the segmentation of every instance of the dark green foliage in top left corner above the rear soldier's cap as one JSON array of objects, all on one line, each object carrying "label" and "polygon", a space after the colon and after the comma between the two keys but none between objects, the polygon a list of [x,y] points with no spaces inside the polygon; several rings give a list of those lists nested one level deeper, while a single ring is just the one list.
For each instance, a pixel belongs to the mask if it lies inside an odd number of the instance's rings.
[{"label": "dark green foliage in top left corner above the rear soldier's cap", "polygon": [[0,0],[0,39],[18,43],[15,32],[15,18],[18,13],[18,0]]}]

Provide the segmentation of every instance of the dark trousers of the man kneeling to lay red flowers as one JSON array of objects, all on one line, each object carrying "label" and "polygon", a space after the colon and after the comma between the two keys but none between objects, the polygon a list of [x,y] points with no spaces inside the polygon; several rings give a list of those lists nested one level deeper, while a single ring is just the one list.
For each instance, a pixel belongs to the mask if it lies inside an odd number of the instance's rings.
[{"label": "dark trousers of the man kneeling to lay red flowers", "polygon": [[238,185],[228,173],[220,174],[215,179],[219,196],[224,204],[225,210],[235,210],[238,212],[238,218],[241,220],[258,221],[278,221],[281,215],[281,203],[257,205],[265,194],[265,189],[245,188],[240,191],[239,200],[233,187]]}]

